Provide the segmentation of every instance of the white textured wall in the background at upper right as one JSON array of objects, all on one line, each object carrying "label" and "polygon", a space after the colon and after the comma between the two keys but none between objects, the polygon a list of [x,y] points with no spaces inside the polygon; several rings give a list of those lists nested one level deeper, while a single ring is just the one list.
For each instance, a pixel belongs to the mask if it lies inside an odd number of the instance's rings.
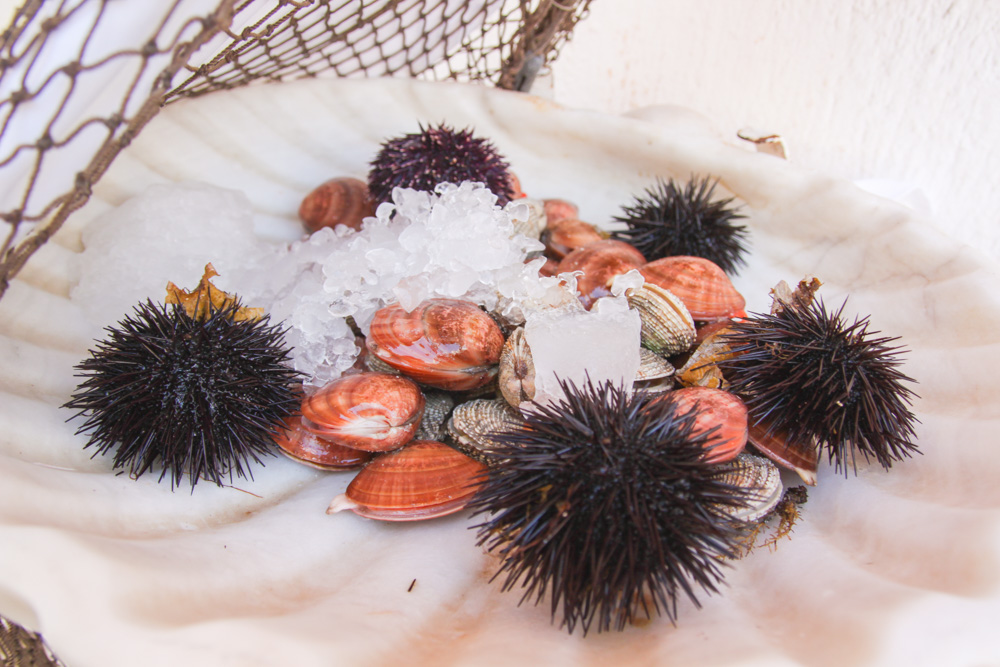
[{"label": "white textured wall in the background at upper right", "polygon": [[779,133],[797,164],[918,187],[1000,259],[996,0],[593,0],[552,86],[568,106]]}]

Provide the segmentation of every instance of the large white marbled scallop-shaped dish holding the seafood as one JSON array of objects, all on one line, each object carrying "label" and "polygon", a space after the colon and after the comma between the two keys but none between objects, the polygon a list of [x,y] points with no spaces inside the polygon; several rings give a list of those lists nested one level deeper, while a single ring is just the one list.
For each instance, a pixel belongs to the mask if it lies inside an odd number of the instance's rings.
[{"label": "large white marbled scallop-shaped dish holding the seafood", "polygon": [[[734,279],[747,309],[767,312],[775,283],[806,274],[822,278],[828,303],[850,293],[851,314],[872,313],[911,350],[923,454],[849,478],[820,466],[792,539],[725,568],[726,586],[701,609],[681,599],[676,625],[654,618],[585,638],[551,625],[547,598],[518,606],[520,592],[486,583],[494,562],[467,529],[475,518],[327,517],[346,476],[284,457],[238,488],[194,494],[91,458],[58,407],[112,321],[88,322],[68,300],[90,222],[150,186],[200,180],[243,190],[256,233],[294,241],[300,198],[329,174],[364,173],[378,141],[415,128],[414,110],[474,127],[530,191],[594,220],[650,174],[720,177],[753,225]],[[689,112],[639,121],[399,79],[247,86],[167,105],[0,299],[0,613],[41,630],[67,665],[995,663],[1000,268],[912,210],[721,134]],[[150,242],[155,258],[163,250]],[[159,298],[167,280],[197,283],[217,250],[192,245],[167,274],[150,262],[120,283],[120,312]]]}]

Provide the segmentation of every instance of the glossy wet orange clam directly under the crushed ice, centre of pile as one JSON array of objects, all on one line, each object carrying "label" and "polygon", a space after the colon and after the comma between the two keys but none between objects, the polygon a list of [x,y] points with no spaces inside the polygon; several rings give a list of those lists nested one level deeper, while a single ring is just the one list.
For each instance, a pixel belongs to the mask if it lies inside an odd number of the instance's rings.
[{"label": "glossy wet orange clam directly under the crushed ice, centre of pile", "polygon": [[474,303],[429,299],[411,313],[399,304],[379,309],[366,342],[373,356],[417,382],[467,391],[496,377],[504,338]]}]

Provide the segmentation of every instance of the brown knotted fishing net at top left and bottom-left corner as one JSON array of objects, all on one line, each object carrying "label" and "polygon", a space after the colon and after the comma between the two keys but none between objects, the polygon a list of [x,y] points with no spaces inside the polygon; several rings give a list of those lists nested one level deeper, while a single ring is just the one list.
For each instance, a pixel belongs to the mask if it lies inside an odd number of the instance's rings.
[{"label": "brown knotted fishing net at top left and bottom-left corner", "polygon": [[[26,0],[0,35],[0,297],[163,106],[255,82],[527,90],[590,0]],[[58,665],[0,617],[0,664]]]}]

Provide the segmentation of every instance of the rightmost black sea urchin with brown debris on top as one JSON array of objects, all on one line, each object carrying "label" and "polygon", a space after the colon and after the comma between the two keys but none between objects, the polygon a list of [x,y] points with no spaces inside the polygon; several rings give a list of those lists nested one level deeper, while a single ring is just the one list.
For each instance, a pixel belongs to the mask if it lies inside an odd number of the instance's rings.
[{"label": "rightmost black sea urchin with brown debris on top", "polygon": [[726,340],[734,356],[719,362],[731,390],[746,402],[751,423],[766,424],[792,443],[825,448],[837,470],[855,452],[883,468],[912,453],[915,395],[899,371],[898,338],[876,338],[868,318],[844,320],[844,304],[788,302],[772,315],[734,321]]}]

